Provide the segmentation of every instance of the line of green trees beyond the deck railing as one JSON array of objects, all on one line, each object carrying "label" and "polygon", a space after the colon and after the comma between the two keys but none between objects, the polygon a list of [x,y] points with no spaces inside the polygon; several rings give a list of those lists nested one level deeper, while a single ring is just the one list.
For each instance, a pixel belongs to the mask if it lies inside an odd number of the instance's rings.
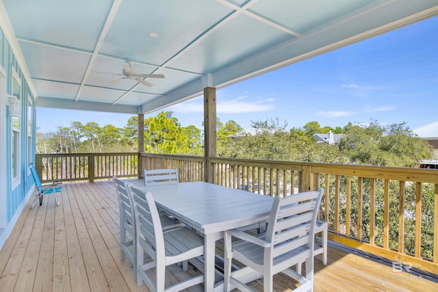
[{"label": "line of green trees beyond the deck railing", "polygon": [[[348,163],[393,167],[416,167],[433,157],[427,142],[416,137],[406,123],[384,126],[348,123],[344,127],[321,127],[312,121],[287,130],[278,119],[252,121],[247,133],[233,120],[217,121],[217,155],[220,157]],[[123,128],[96,122],[72,122],[70,127],[37,133],[37,153],[138,152],[138,118]],[[343,134],[338,144],[318,143],[314,135],[331,131]],[[172,111],[161,111],[144,120],[144,152],[203,155],[203,131],[182,127]]]}]

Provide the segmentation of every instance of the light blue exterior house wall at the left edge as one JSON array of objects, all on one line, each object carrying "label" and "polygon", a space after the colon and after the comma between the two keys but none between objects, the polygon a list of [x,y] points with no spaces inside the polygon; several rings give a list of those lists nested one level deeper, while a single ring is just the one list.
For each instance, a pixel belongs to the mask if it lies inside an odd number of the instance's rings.
[{"label": "light blue exterior house wall at the left edge", "polygon": [[[36,102],[27,82],[29,79],[23,72],[27,68],[23,69],[23,65],[20,64],[24,63],[18,62],[21,52],[14,49],[18,45],[11,44],[11,35],[7,33],[7,24],[0,21],[0,248],[9,236],[35,185],[28,165],[35,157]],[[13,39],[12,42],[16,40]],[[21,100],[16,179],[12,178],[13,131],[8,103],[8,96],[13,94],[14,79],[19,85]]]}]

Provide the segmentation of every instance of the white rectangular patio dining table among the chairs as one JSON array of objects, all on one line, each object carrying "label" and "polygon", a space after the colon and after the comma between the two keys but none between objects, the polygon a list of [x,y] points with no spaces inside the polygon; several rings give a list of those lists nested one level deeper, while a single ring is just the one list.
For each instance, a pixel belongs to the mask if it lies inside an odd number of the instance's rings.
[{"label": "white rectangular patio dining table among the chairs", "polygon": [[216,240],[223,231],[267,220],[274,198],[211,183],[194,182],[138,187],[150,191],[159,209],[204,235],[205,291],[215,287]]}]

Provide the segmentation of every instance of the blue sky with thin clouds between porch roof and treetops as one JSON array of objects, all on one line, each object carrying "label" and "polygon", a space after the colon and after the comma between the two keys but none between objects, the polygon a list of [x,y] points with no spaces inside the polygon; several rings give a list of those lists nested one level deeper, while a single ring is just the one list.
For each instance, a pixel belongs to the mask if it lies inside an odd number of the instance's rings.
[{"label": "blue sky with thin clouds between porch roof and treetops", "polygon": [[[216,93],[221,122],[244,129],[251,121],[279,119],[287,128],[317,121],[406,122],[411,129],[438,121],[438,16],[318,57],[222,88]],[[203,122],[203,97],[164,109],[182,126]],[[158,111],[145,115],[156,116]],[[124,127],[131,115],[37,109],[38,131],[97,122]]]}]

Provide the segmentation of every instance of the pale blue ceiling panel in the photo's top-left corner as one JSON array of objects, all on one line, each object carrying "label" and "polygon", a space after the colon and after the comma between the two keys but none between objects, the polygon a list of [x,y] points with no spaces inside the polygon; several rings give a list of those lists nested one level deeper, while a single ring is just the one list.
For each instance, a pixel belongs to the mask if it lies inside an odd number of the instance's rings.
[{"label": "pale blue ceiling panel in the photo's top-left corner", "polygon": [[4,2],[17,38],[92,51],[112,0]]}]

